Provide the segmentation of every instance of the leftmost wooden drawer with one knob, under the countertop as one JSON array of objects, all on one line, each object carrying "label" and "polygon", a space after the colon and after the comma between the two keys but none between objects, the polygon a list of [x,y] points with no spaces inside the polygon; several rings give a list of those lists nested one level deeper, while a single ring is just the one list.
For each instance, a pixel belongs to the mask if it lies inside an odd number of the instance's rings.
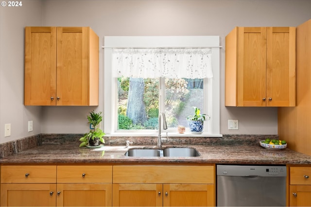
[{"label": "leftmost wooden drawer with one knob, under the countertop", "polygon": [[4,165],[1,183],[56,183],[56,166]]}]

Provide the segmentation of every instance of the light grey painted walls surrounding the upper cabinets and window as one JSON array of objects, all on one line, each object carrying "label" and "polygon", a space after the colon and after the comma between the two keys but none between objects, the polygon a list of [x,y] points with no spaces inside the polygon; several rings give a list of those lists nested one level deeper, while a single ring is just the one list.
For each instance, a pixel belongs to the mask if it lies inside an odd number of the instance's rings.
[{"label": "light grey painted walls surrounding the upper cabinets and window", "polygon": [[[0,8],[0,143],[38,133],[85,133],[86,114],[104,110],[104,51],[98,107],[24,106],[24,26],[90,26],[105,35],[220,35],[222,134],[277,134],[277,108],[225,107],[225,35],[235,26],[297,26],[311,18],[311,0],[23,0]],[[13,116],[14,114],[14,116]],[[238,119],[239,130],[227,130]],[[34,120],[32,133],[27,121]],[[4,138],[4,124],[12,136]]]}]

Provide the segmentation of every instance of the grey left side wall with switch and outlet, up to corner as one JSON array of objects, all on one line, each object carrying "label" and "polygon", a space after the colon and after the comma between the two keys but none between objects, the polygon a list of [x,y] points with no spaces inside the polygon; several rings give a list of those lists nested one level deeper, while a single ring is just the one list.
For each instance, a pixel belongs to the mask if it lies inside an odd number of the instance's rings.
[{"label": "grey left side wall with switch and outlet, up to corner", "polygon": [[[42,1],[22,3],[21,7],[0,6],[0,143],[41,132],[42,107],[23,105],[23,68],[24,27],[42,25]],[[33,132],[28,132],[29,120],[34,121]],[[11,123],[11,136],[4,138],[6,123]]]}]

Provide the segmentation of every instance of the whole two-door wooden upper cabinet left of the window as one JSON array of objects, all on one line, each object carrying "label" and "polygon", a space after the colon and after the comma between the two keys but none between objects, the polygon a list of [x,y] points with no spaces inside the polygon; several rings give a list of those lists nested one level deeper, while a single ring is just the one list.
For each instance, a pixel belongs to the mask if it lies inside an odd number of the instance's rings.
[{"label": "whole two-door wooden upper cabinet left of the window", "polygon": [[98,105],[99,37],[89,27],[25,28],[25,105]]}]

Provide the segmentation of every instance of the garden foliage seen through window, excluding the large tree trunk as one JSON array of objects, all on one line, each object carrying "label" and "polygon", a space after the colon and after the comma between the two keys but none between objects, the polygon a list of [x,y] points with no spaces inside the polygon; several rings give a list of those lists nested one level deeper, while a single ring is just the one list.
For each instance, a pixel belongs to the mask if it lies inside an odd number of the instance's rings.
[{"label": "garden foliage seen through window, excluding the large tree trunk", "polygon": [[[157,129],[159,113],[159,79],[144,79],[143,101],[146,107],[147,121],[132,124],[126,116],[129,78],[118,78],[119,81],[119,129]],[[165,115],[169,127],[177,127],[178,120],[187,119],[193,113],[186,103],[203,103],[202,89],[188,89],[185,79],[165,79]],[[191,82],[192,84],[192,82]],[[198,95],[198,96],[197,96]],[[186,108],[187,107],[187,108]],[[199,106],[201,107],[201,106]],[[187,110],[186,110],[187,109]],[[190,113],[189,113],[190,112]],[[187,114],[188,113],[188,114]]]}]

